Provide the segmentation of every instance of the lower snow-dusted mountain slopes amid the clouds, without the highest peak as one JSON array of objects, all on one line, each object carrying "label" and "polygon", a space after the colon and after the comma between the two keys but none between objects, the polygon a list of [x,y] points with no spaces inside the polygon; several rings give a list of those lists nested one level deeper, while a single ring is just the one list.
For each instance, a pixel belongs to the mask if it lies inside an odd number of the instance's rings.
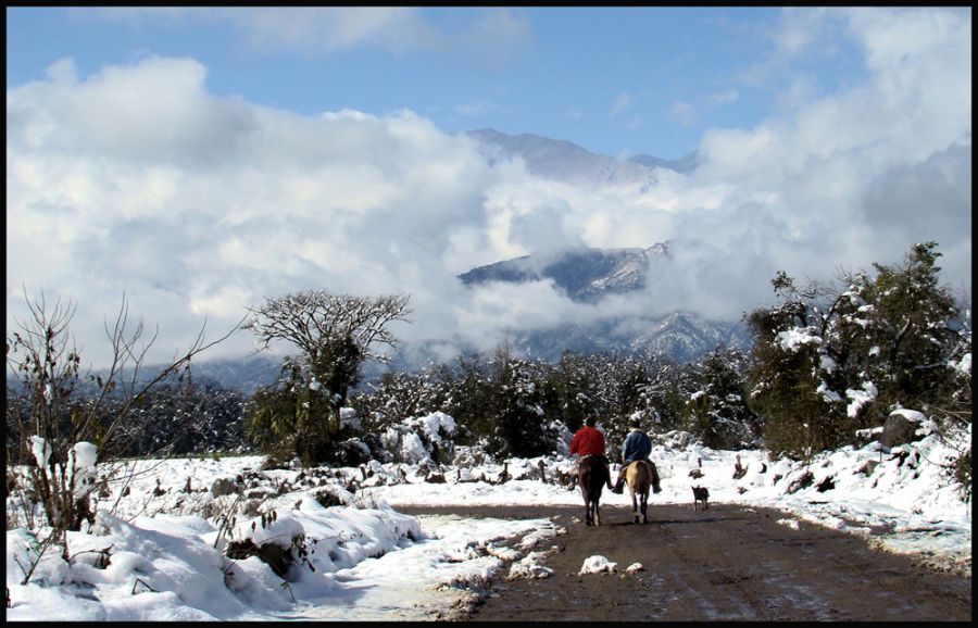
[{"label": "lower snow-dusted mountain slopes amid the clouds, without the highest peak", "polygon": [[[560,254],[524,255],[479,266],[463,273],[459,279],[469,289],[492,284],[521,284],[552,280],[568,299],[597,304],[612,296],[626,297],[639,292],[655,273],[666,272],[669,244],[648,248],[573,249]],[[693,312],[674,312],[664,316],[622,315],[588,323],[565,323],[543,329],[510,329],[505,337],[513,349],[527,359],[555,362],[564,351],[580,354],[601,352],[654,353],[677,363],[694,361],[705,353],[726,347],[750,350],[750,336],[742,322],[710,321]],[[363,380],[369,380],[388,368],[410,370],[442,361],[434,344],[402,343],[390,356],[390,363],[364,364]],[[457,351],[478,348],[457,339]],[[224,388],[254,392],[272,384],[278,375],[280,357],[266,354],[242,360],[215,360],[196,363],[198,381],[212,381]]]}]

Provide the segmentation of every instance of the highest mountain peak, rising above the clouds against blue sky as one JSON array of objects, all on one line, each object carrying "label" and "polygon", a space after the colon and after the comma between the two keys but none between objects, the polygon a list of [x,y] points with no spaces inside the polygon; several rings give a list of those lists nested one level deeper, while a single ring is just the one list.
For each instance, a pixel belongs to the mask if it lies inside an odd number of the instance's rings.
[{"label": "highest mountain peak, rising above the clouds against blue sky", "polygon": [[592,153],[573,142],[539,135],[506,135],[494,129],[468,133],[479,141],[479,150],[491,164],[523,159],[527,171],[537,176],[575,185],[640,186],[647,190],[664,179],[684,176],[699,165],[697,153],[678,160],[647,154],[618,159]]}]

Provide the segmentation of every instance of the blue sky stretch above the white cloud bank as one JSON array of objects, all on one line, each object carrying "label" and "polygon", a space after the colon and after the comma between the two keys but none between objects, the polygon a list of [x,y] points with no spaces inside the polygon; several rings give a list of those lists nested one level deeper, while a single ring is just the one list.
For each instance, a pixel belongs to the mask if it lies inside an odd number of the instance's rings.
[{"label": "blue sky stretch above the white cloud bank", "polygon": [[216,95],[306,115],[409,109],[450,133],[677,159],[706,128],[750,128],[785,106],[790,81],[814,98],[865,72],[840,37],[792,54],[783,20],[763,7],[398,8],[362,21],[331,9],[18,7],[8,9],[8,87],[61,58],[85,76],[188,56]]}]

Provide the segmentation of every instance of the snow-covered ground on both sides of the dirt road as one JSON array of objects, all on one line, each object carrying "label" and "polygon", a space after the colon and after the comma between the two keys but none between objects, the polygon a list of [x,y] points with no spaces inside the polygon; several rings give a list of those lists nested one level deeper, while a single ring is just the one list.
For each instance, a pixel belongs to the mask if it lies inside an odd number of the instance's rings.
[{"label": "snow-covered ground on both sides of the dirt road", "polygon": [[[783,525],[804,519],[872,536],[883,550],[970,578],[970,502],[961,500],[962,487],[943,468],[954,453],[931,435],[885,453],[872,443],[804,465],[770,462],[764,451],[713,451],[673,432],[652,452],[663,490],[651,497],[650,515],[660,503],[691,506],[690,487],[701,485],[713,504],[780,508]],[[737,456],[744,470],[735,479]],[[471,457],[456,456],[463,460]],[[37,562],[37,540],[23,528],[8,530],[7,619],[451,618],[489,576],[549,576],[543,558],[563,530],[549,519],[413,517],[399,506],[566,504],[584,513],[579,492],[559,483],[574,465],[565,457],[510,461],[511,479],[501,483],[498,464],[441,467],[436,470],[444,482],[435,483],[438,478],[418,464],[260,472],[262,461],[100,467],[99,476],[111,481],[99,498],[96,525],[70,533],[70,562],[58,552]],[[691,477],[694,469],[702,477]],[[230,492],[214,497],[212,489]],[[627,491],[606,491],[602,503],[631,501]],[[16,512],[9,500],[9,522]],[[231,512],[239,514],[230,518]],[[229,542],[285,548],[297,539],[303,565],[285,578],[258,556],[225,556]],[[21,585],[34,562],[29,582]]]}]

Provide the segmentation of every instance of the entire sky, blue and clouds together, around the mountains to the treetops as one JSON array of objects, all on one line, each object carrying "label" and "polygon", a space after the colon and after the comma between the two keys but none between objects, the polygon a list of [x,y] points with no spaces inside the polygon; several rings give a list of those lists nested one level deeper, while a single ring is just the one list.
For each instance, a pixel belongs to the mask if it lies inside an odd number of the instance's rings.
[{"label": "entire sky, blue and clouds together, around the mountains to the treetops", "polygon": [[[928,240],[970,293],[970,8],[7,18],[8,328],[25,291],[71,300],[92,360],[123,294],[172,353],[203,321],[221,330],[288,292],[408,293],[396,332],[450,356],[517,327],[736,321],[780,271],[830,281]],[[480,128],[701,162],[557,181],[487,162],[460,135]],[[665,241],[667,272],[627,299],[457,280],[534,252]]]}]

